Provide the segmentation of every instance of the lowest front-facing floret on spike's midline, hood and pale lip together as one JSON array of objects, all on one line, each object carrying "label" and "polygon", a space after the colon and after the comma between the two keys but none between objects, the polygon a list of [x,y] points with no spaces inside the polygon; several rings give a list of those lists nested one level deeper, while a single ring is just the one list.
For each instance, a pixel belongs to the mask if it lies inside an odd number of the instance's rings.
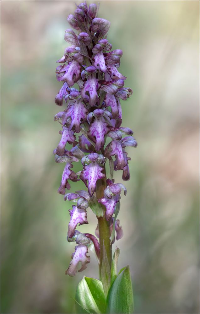
[{"label": "lowest front-facing floret on spike's midline, hood and pale lip together", "polygon": [[84,168],[80,174],[80,179],[85,183],[86,187],[88,187],[89,195],[92,196],[95,192],[97,180],[105,178],[105,174],[102,173],[104,168],[98,164],[99,154],[92,153],[86,157],[87,160],[82,159],[82,162],[85,164],[85,162],[90,161],[90,163],[89,165],[84,165]]}]

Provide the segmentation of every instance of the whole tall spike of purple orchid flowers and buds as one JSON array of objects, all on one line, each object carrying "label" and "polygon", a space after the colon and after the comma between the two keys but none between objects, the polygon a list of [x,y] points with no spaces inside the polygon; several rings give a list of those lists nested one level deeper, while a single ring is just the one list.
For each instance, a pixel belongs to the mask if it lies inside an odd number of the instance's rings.
[{"label": "whole tall spike of purple orchid flowers and buds", "polygon": [[[122,179],[129,180],[130,172],[126,147],[137,147],[132,137],[132,130],[121,127],[122,108],[120,99],[127,100],[132,89],[124,87],[126,77],[119,72],[122,50],[112,50],[106,39],[110,22],[97,18],[96,4],[81,3],[74,15],[68,16],[68,22],[75,30],[67,29],[64,39],[71,46],[64,51],[63,57],[57,62],[57,80],[62,87],[55,98],[58,106],[66,107],[58,112],[54,120],[62,125],[60,142],[54,150],[57,163],[65,163],[58,193],[64,199],[76,205],[69,210],[68,241],[75,241],[77,246],[72,254],[72,261],[66,274],[74,276],[81,262],[79,271],[84,270],[90,262],[88,248],[94,249],[99,258],[100,246],[98,227],[95,236],[82,234],[76,230],[77,225],[88,224],[87,211],[90,207],[97,218],[104,217],[109,222],[110,231],[116,230],[116,240],[123,235],[120,221],[116,219],[117,204],[122,190],[121,183],[114,183],[113,170],[122,170]],[[73,87],[76,84],[76,87]],[[105,146],[106,138],[111,139]],[[66,144],[72,145],[70,151]],[[105,162],[109,161],[110,178],[106,180]],[[73,163],[81,161],[83,168],[78,173]],[[106,180],[104,196],[96,197],[96,183]],[[82,180],[88,191],[67,193],[69,181]],[[105,207],[104,207],[105,206]],[[103,211],[105,208],[105,211]],[[115,215],[113,217],[113,215]],[[112,237],[111,242],[115,241]]]}]

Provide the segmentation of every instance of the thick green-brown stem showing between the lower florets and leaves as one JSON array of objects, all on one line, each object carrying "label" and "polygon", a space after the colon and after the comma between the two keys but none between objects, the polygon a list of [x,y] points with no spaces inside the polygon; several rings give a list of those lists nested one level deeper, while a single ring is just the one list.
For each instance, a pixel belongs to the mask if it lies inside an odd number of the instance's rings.
[{"label": "thick green-brown stem showing between the lower florets and leaves", "polygon": [[[105,173],[105,166],[104,171]],[[106,188],[106,176],[102,180],[97,181],[96,194],[97,199],[104,196],[104,190]],[[111,273],[111,262],[112,262],[112,245],[110,241],[111,231],[108,221],[105,219],[105,206],[102,205],[104,216],[98,218],[99,226],[99,241],[100,241],[100,263],[99,272],[100,279],[102,281],[105,294],[108,292],[110,286],[110,273]]]}]

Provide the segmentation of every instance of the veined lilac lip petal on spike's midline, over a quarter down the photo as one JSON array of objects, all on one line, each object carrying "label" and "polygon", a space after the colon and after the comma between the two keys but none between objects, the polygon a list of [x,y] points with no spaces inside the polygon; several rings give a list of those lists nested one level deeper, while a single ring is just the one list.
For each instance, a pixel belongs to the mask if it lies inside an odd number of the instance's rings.
[{"label": "veined lilac lip petal on spike's midline, over a quarter down the photo", "polygon": [[[81,96],[86,102],[89,102],[89,106],[98,105],[99,99],[97,90],[100,88],[98,79],[94,77],[89,77],[88,80],[84,83],[84,87],[81,89]],[[89,93],[89,96],[86,94]]]}]

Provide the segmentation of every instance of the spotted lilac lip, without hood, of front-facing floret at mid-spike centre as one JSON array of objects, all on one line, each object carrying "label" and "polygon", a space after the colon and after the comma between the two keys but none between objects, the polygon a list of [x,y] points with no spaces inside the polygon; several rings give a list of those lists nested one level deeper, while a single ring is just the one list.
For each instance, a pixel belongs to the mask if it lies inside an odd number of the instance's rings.
[{"label": "spotted lilac lip, without hood, of front-facing floret at mid-spike centre", "polygon": [[109,132],[110,126],[103,116],[95,117],[95,121],[89,126],[88,137],[95,142],[95,149],[100,150],[104,146],[105,135]]}]

